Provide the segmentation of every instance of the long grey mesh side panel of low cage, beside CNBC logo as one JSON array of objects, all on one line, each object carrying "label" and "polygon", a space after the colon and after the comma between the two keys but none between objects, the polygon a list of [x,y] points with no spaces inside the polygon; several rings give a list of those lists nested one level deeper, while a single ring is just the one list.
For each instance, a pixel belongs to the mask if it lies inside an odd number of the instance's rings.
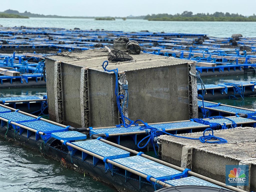
[{"label": "long grey mesh side panel of low cage, beside CNBC logo", "polygon": [[226,182],[226,165],[238,164],[238,160],[193,149],[192,171],[222,183]]}]

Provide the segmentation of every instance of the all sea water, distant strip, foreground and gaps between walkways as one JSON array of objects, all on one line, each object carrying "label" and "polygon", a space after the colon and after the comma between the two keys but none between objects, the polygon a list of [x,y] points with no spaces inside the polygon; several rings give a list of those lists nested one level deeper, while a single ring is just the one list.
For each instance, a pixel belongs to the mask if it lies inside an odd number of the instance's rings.
[{"label": "all sea water, distant strip, foreground and gaps between walkways", "polygon": [[[73,29],[105,29],[125,32],[149,30],[150,32],[203,33],[211,36],[230,37],[233,33],[243,36],[256,36],[256,25],[251,22],[157,22],[137,19],[123,21],[95,21],[93,19],[66,18],[30,18],[9,19],[0,18],[0,24],[5,27],[58,27]],[[255,76],[206,77],[204,82],[241,82],[256,81]],[[46,88],[15,88],[1,89],[0,97],[46,94]],[[242,100],[216,100],[229,105],[256,108],[255,98]],[[89,176],[72,171],[60,165],[53,159],[41,156],[37,151],[13,145],[0,138],[0,192],[80,192],[80,191],[115,191],[109,186],[96,182]]]}]

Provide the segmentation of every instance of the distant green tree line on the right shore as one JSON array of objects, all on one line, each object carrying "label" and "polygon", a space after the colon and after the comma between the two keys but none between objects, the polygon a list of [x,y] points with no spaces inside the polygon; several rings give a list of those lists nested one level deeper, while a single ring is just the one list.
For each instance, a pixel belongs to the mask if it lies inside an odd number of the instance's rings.
[{"label": "distant green tree line on the right shore", "polygon": [[252,16],[246,17],[243,15],[234,14],[234,13],[222,13],[215,12],[213,14],[205,14],[205,13],[197,13],[193,15],[191,11],[184,11],[182,14],[152,14],[147,15],[144,19],[149,21],[256,21],[256,16],[253,14]]}]

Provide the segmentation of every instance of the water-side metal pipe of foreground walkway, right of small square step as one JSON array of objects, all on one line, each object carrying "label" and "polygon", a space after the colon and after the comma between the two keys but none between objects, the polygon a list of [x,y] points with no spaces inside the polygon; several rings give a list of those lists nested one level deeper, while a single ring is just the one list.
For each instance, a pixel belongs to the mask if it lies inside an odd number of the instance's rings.
[{"label": "water-side metal pipe of foreground walkway, right of small square step", "polygon": [[[60,142],[63,143],[64,140],[60,140]],[[101,159],[101,160],[104,159],[104,157],[102,157],[102,156],[100,156],[100,155],[97,155],[97,154],[95,154],[95,153],[92,153],[92,152],[90,152],[90,151],[87,151],[87,150],[85,150],[85,149],[83,149],[83,148],[81,148],[81,147],[78,147],[78,146],[76,146],[76,145],[73,145],[72,143],[68,143],[68,142],[67,142],[66,145],[68,145],[68,146],[70,146],[70,147],[73,147],[73,148],[75,148],[75,149],[77,149],[77,150],[79,150],[79,151],[82,151],[82,152],[84,152],[84,153],[86,153],[86,154],[88,154],[88,155],[94,156],[94,157],[96,157],[96,158],[98,158],[98,159]],[[130,173],[133,173],[133,174],[136,174],[136,175],[138,175],[138,176],[141,176],[141,177],[143,177],[143,178],[145,178],[145,179],[147,178],[147,175],[145,175],[145,174],[143,174],[143,173],[140,173],[140,172],[138,172],[138,171],[136,171],[136,170],[133,170],[133,169],[131,169],[131,168],[129,168],[129,167],[126,167],[126,166],[124,166],[124,165],[121,165],[121,164],[119,164],[119,163],[116,163],[116,162],[114,162],[114,161],[111,161],[110,159],[107,159],[106,162],[107,162],[107,163],[110,163],[110,164],[112,164],[112,165],[114,165],[114,166],[116,166],[116,167],[119,167],[119,168],[122,168],[122,169],[124,169],[124,170],[127,170],[127,171],[129,171]],[[162,185],[163,187],[172,187],[171,185],[169,185],[169,184],[167,184],[167,183],[164,183],[164,182],[162,182],[162,181],[160,181],[160,180],[157,180],[157,179],[155,179],[155,178],[153,178],[153,177],[150,178],[150,181],[155,182],[155,183],[158,183],[159,185]]]}]

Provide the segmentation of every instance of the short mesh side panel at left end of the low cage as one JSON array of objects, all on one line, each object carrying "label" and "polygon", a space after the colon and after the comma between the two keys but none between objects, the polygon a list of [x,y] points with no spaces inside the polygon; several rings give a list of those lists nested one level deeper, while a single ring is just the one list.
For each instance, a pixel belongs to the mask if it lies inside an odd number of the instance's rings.
[{"label": "short mesh side panel at left end of the low cage", "polygon": [[182,145],[177,143],[170,143],[168,141],[162,141],[162,159],[168,163],[179,166],[181,164],[182,157]]}]

